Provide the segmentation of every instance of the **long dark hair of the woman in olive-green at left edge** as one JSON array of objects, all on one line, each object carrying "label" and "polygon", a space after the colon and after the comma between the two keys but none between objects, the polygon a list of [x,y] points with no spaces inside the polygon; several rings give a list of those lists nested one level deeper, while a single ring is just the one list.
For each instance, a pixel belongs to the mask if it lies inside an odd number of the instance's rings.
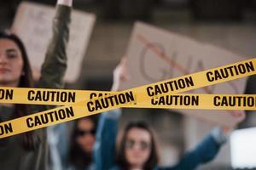
[{"label": "long dark hair of the woman in olive-green at left edge", "polygon": [[[18,88],[33,88],[34,82],[32,79],[32,69],[29,63],[26,48],[23,42],[17,37],[15,34],[0,32],[1,39],[9,39],[20,49],[20,53],[23,59],[23,73],[20,76],[20,82]],[[32,113],[32,108],[29,105],[15,105],[15,114],[13,118],[17,118],[20,116],[27,116]],[[1,120],[0,120],[1,121]],[[1,121],[2,122],[2,121]],[[37,131],[31,131],[28,133],[22,133],[20,135],[21,144],[24,146],[26,150],[35,150],[40,142],[41,138],[39,137]]]}]

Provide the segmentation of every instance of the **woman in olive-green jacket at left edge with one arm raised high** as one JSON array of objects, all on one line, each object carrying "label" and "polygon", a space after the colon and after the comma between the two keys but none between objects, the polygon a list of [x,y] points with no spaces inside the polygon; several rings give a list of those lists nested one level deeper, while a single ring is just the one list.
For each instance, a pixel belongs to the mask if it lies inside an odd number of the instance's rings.
[{"label": "woman in olive-green jacket at left edge with one arm raised high", "polygon": [[[53,37],[41,70],[38,88],[63,88],[67,68],[66,46],[72,0],[58,0]],[[40,41],[40,35],[38,35]],[[26,48],[15,34],[0,33],[0,87],[34,88]],[[49,109],[38,105],[0,105],[0,122]],[[1,170],[47,169],[46,129],[0,139]]]}]

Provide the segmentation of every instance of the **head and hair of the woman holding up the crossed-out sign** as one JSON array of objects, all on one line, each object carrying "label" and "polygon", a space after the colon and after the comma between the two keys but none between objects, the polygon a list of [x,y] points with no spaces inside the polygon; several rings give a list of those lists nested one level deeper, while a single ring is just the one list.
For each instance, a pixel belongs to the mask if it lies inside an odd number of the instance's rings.
[{"label": "head and hair of the woman holding up the crossed-out sign", "polygon": [[117,150],[116,161],[121,169],[130,169],[131,164],[153,169],[160,161],[154,130],[145,122],[129,122],[119,136]]}]

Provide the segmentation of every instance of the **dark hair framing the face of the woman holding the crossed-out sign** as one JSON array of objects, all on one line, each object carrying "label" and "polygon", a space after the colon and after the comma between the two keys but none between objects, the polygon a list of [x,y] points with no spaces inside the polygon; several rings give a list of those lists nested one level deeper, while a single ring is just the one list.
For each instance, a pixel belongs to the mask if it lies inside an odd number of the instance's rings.
[{"label": "dark hair framing the face of the woman holding the crossed-out sign", "polygon": [[147,131],[150,134],[151,138],[151,152],[148,158],[148,161],[145,162],[143,166],[143,170],[152,170],[154,167],[158,165],[159,162],[159,150],[156,144],[156,139],[154,135],[154,131],[151,127],[148,126],[146,122],[129,122],[127,126],[124,128],[123,132],[119,134],[118,142],[117,142],[117,153],[116,153],[116,161],[121,167],[122,170],[128,170],[131,165],[126,160],[125,157],[125,141],[127,138],[127,133],[131,130],[131,128],[140,128]]}]

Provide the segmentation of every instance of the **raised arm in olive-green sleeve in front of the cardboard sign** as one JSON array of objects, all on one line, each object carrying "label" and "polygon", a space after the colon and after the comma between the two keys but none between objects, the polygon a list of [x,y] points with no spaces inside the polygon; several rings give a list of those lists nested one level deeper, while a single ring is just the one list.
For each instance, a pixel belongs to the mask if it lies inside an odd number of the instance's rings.
[{"label": "raised arm in olive-green sleeve in front of the cardboard sign", "polygon": [[63,88],[67,69],[67,42],[73,0],[58,0],[53,20],[53,37],[49,42],[41,69],[39,88]]}]

